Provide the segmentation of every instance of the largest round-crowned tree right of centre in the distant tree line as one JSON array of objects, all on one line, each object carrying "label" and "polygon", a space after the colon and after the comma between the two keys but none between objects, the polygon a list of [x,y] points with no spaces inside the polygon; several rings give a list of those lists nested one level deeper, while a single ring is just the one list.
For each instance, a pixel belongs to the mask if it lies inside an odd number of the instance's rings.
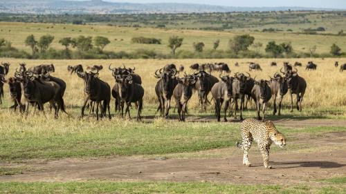
[{"label": "largest round-crowned tree right of centre in the distant tree line", "polygon": [[237,35],[233,39],[230,39],[229,46],[230,50],[238,54],[239,51],[246,51],[248,47],[255,41],[254,37],[250,35]]}]

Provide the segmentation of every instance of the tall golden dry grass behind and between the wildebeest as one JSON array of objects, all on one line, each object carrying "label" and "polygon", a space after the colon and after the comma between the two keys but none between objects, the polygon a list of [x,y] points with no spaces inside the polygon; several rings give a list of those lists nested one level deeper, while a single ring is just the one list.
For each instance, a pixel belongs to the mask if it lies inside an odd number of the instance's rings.
[{"label": "tall golden dry grass behind and between the wildebeest", "polygon": [[[8,77],[13,76],[15,68],[19,66],[19,62],[26,62],[27,66],[36,66],[39,64],[55,65],[55,72],[52,74],[55,77],[60,77],[66,81],[67,88],[65,93],[66,105],[69,107],[82,106],[84,82],[77,75],[69,75],[67,72],[68,65],[83,64],[84,67],[94,64],[104,66],[100,71],[100,79],[107,81],[111,87],[115,84],[111,72],[108,70],[108,65],[127,67],[136,67],[138,73],[143,80],[143,88],[145,89],[144,103],[145,106],[156,106],[158,103],[155,94],[155,85],[157,79],[154,77],[154,72],[157,68],[161,68],[166,64],[176,64],[177,66],[185,66],[186,72],[192,72],[189,66],[193,63],[206,62],[226,62],[232,70],[231,75],[235,72],[248,72],[248,61],[253,61],[262,66],[263,71],[252,71],[252,77],[256,79],[268,79],[268,75],[273,76],[275,72],[280,72],[283,61],[289,61],[294,64],[295,61],[302,62],[303,66],[298,67],[298,75],[304,77],[307,81],[307,90],[303,99],[304,108],[332,108],[346,106],[346,72],[339,72],[339,68],[334,67],[334,62],[339,61],[339,64],[346,62],[346,59],[128,59],[128,60],[27,60],[27,59],[0,59],[0,61],[9,61],[10,72]],[[235,62],[239,62],[239,67],[235,67]],[[277,61],[277,67],[271,67],[271,61]],[[307,61],[314,61],[318,64],[315,71],[307,71],[304,65]],[[218,76],[217,72],[214,73]],[[4,86],[6,93],[6,101],[9,100],[8,85]],[[209,97],[211,99],[211,96]],[[289,96],[284,97],[284,104],[289,104]],[[111,101],[113,109],[113,99]],[[189,103],[190,108],[198,106],[197,95],[194,95]],[[153,113],[154,114],[154,113]]]}]

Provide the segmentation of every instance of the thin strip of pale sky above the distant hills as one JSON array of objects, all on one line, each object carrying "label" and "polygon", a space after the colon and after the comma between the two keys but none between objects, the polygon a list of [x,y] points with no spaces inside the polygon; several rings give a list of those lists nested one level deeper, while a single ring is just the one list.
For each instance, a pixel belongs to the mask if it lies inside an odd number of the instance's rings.
[{"label": "thin strip of pale sky above the distant hills", "polygon": [[346,9],[346,0],[104,0],[127,3],[199,3],[235,7],[308,7]]}]

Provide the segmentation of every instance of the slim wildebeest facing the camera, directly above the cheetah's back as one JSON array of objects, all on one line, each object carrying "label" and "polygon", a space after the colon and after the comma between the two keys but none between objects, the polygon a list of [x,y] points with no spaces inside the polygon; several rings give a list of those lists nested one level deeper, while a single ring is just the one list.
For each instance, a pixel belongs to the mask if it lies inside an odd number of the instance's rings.
[{"label": "slim wildebeest facing the camera, directly above the cheetah's back", "polygon": [[[261,79],[260,81],[255,81],[255,86],[253,86],[252,90],[252,97],[256,103],[257,119],[264,120],[266,103],[271,99],[271,88],[269,88],[268,86],[268,81],[264,79]],[[263,117],[260,116],[261,105],[263,105]]]}]

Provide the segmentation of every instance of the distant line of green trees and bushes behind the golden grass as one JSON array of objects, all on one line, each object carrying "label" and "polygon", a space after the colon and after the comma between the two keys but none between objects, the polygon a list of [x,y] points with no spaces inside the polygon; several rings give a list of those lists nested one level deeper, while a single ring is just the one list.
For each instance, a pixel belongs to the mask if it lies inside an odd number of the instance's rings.
[{"label": "distant line of green trees and bushes behind the golden grass", "polygon": [[[220,40],[216,39],[210,48],[206,48],[203,41],[192,43],[193,50],[181,50],[183,37],[172,36],[168,39],[169,54],[155,50],[138,49],[132,52],[113,52],[105,50],[111,43],[107,37],[63,37],[57,40],[64,49],[51,48],[55,37],[43,35],[35,37],[28,35],[24,43],[31,53],[12,47],[12,43],[6,39],[0,39],[0,57],[27,58],[27,59],[185,59],[185,58],[261,58],[261,57],[338,57],[345,56],[336,43],[333,43],[329,53],[317,54],[316,46],[311,46],[309,52],[296,52],[291,42],[276,43],[268,41],[263,54],[260,52],[263,44],[255,42],[251,35],[237,35],[228,41],[228,49],[220,50]],[[161,39],[134,37],[133,43],[160,43]],[[73,49],[72,49],[73,48]],[[249,49],[253,48],[253,49]]]}]

